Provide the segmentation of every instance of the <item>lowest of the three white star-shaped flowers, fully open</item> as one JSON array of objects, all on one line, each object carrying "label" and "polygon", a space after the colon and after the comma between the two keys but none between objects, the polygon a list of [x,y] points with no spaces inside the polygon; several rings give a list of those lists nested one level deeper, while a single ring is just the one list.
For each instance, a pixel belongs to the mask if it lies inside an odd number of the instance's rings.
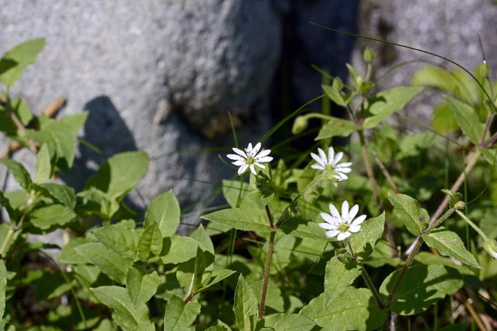
[{"label": "lowest of the three white star-shaped flowers, fully open", "polygon": [[320,215],[326,221],[326,223],[319,223],[323,229],[326,231],[327,237],[334,237],[338,240],[344,240],[350,237],[352,233],[359,232],[361,229],[361,223],[366,219],[366,215],[360,215],[354,220],[355,215],[359,211],[359,206],[356,204],[350,210],[348,210],[348,202],[343,201],[342,203],[342,214],[338,212],[334,205],[330,203],[330,214],[322,212]]}]

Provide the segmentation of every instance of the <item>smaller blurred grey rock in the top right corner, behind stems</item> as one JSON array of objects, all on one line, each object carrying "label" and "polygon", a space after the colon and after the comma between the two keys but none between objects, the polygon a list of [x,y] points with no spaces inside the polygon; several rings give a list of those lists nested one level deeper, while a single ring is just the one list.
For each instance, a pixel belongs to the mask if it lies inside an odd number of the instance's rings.
[{"label": "smaller blurred grey rock in the top right corner, behind stems", "polygon": [[[444,5],[446,3],[446,7]],[[450,22],[450,34],[446,24],[446,10]],[[478,42],[480,34],[487,61],[497,70],[497,5],[492,0],[364,0],[359,10],[359,33],[379,39],[409,45],[450,58],[468,70],[479,65],[483,58]],[[375,72],[381,75],[395,64],[414,59],[424,59],[439,64],[443,60],[406,48],[358,39],[353,53],[353,65],[362,67],[362,52],[366,46],[375,50]],[[414,63],[401,66],[388,74],[378,84],[379,89],[409,85],[416,69],[426,66]],[[451,66],[455,67],[455,66]],[[425,91],[409,107],[409,115],[425,124],[431,123],[433,105],[439,95]]]}]

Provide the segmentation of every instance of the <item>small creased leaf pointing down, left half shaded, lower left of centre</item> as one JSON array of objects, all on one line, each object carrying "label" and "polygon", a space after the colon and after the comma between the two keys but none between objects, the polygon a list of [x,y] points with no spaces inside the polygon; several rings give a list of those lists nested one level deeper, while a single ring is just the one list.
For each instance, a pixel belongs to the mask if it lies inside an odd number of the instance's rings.
[{"label": "small creased leaf pointing down, left half shaded, lower left of centre", "polygon": [[161,284],[161,277],[157,271],[143,273],[135,267],[128,270],[126,276],[126,291],[134,307],[148,302],[157,292]]}]

